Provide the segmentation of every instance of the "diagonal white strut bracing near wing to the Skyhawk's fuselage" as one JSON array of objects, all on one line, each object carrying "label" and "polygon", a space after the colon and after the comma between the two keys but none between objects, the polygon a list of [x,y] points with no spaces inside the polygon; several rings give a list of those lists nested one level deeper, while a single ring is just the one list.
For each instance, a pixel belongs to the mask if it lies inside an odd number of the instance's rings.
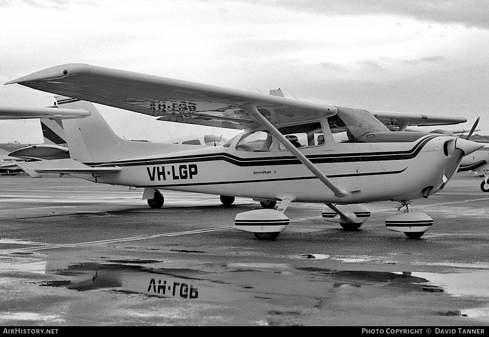
[{"label": "diagonal white strut bracing near wing to the Skyhawk's fuselage", "polygon": [[287,139],[284,135],[282,135],[277,128],[273,126],[272,123],[270,123],[265,116],[263,116],[258,109],[256,108],[255,104],[244,104],[239,107],[241,110],[248,112],[249,114],[253,115],[256,120],[262,124],[272,135],[278,138],[282,144],[285,145],[287,150],[290,151],[292,155],[297,157],[306,167],[311,171],[319,180],[321,180],[330,190],[333,191],[334,196],[338,199],[345,199],[350,196],[350,192],[347,190],[340,189],[338,186],[336,186],[333,181],[329,180],[328,177],[324,175],[317,167],[314,165],[311,160],[309,160],[306,156],[302,154],[297,148],[292,145],[292,143]]}]

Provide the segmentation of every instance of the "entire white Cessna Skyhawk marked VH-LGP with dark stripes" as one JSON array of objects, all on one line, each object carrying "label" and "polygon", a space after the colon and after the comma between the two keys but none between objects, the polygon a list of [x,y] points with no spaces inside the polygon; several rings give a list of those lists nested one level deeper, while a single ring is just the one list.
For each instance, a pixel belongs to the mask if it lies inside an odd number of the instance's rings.
[{"label": "entire white Cessna Skyhawk marked VH-LGP with dark stripes", "polygon": [[[70,158],[22,163],[29,175],[54,172],[143,187],[152,207],[163,204],[159,189],[280,201],[278,209],[236,215],[236,228],[259,239],[275,239],[286,229],[291,202],[325,203],[326,220],[356,229],[370,217],[359,203],[386,200],[400,202],[387,228],[419,238],[433,220],[412,211],[410,201],[441,190],[462,157],[482,146],[449,135],[390,132],[365,110],[84,64],[47,68],[6,84],[13,83],[70,97],[57,105],[90,114],[63,120]],[[244,131],[216,147],[131,142],[115,135],[90,102]],[[402,117],[382,113],[390,120]],[[421,125],[467,121],[412,117]]]}]

